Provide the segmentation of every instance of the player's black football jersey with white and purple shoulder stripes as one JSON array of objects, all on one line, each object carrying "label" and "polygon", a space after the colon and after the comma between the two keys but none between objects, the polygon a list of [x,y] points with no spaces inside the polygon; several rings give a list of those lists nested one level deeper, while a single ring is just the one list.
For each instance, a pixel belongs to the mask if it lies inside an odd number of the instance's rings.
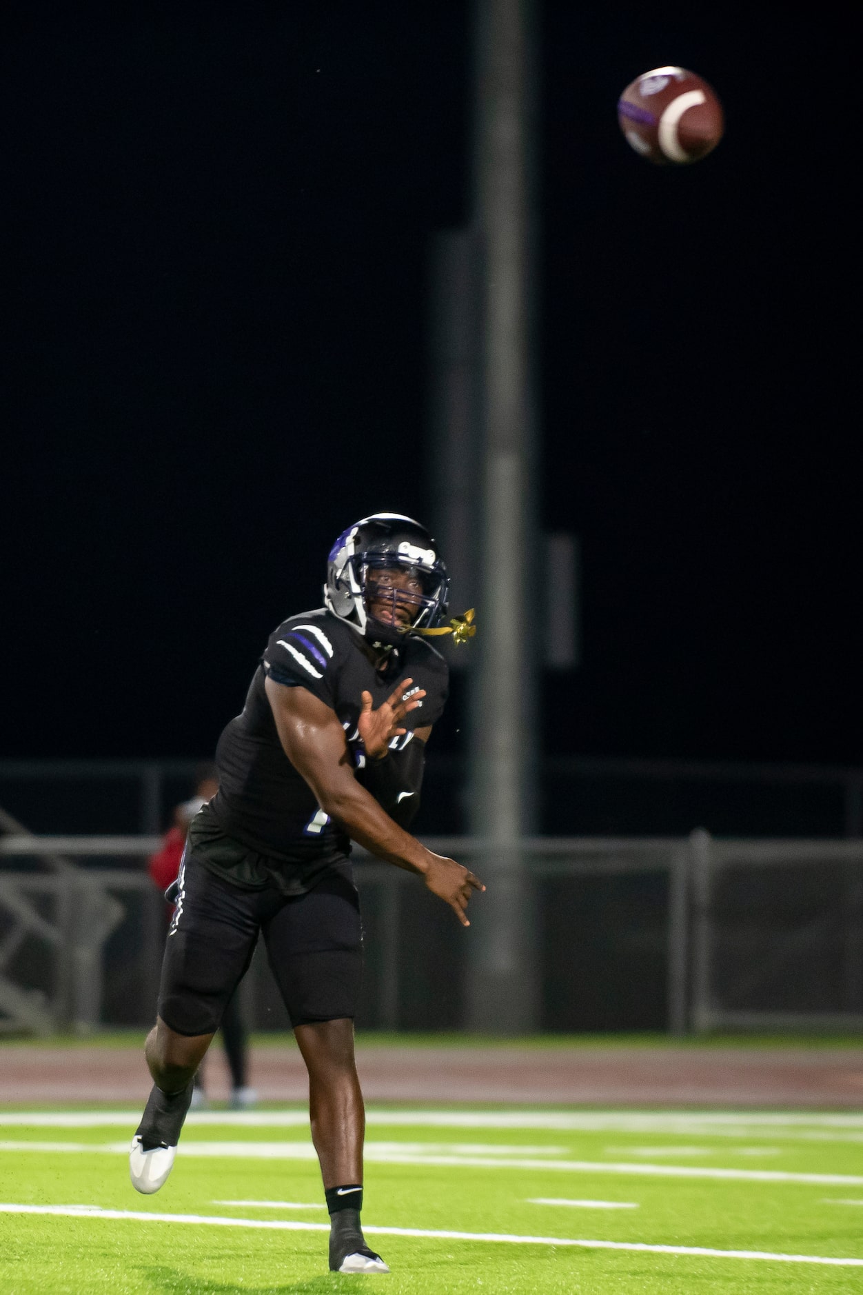
[{"label": "player's black football jersey with white and purple shoulder stripes", "polygon": [[223,730],[216,747],[219,793],[210,803],[226,837],[279,865],[339,862],[349,852],[344,830],[323,813],[305,780],[282,750],[264,689],[267,676],[289,688],[305,688],[339,716],[362,781],[365,752],[357,720],[362,692],[375,710],[400,680],[413,679],[426,697],[400,726],[408,732],[391,746],[406,746],[414,729],[433,724],[444,710],[448,668],[431,644],[410,635],[393,648],[383,671],[369,660],[351,625],[321,607],[282,622],[270,635],[242,715]]}]

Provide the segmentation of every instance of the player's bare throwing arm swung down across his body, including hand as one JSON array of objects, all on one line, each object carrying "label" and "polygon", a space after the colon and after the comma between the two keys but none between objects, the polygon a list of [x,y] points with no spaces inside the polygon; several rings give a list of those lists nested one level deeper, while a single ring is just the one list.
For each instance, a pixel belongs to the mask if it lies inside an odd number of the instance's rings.
[{"label": "player's bare throwing arm swung down across his body, including hand", "polygon": [[397,868],[419,873],[433,895],[470,926],[466,909],[483,883],[462,864],[427,850],[380,808],[353,776],[353,760],[335,711],[305,688],[265,681],[267,697],[282,749],[308,782],[317,803],[370,853]]}]

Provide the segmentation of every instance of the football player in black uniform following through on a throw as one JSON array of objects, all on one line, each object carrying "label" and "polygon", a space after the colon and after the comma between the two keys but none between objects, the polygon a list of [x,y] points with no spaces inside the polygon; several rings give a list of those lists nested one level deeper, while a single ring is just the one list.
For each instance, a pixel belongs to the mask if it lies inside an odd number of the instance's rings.
[{"label": "football player in black uniform following through on a throw", "polygon": [[[270,635],[246,704],[219,738],[219,791],[193,818],[168,932],[154,1080],[132,1141],[138,1191],[166,1181],[195,1070],[263,932],[309,1074],[312,1140],[330,1211],[330,1268],[388,1272],[362,1235],[364,1106],[353,1058],[361,973],[351,839],[418,873],[468,926],[467,868],[408,833],[448,671],[446,569],[428,532],[377,513],[339,536],[325,606]],[[467,620],[472,616],[467,614]],[[450,622],[455,636],[472,625]]]}]

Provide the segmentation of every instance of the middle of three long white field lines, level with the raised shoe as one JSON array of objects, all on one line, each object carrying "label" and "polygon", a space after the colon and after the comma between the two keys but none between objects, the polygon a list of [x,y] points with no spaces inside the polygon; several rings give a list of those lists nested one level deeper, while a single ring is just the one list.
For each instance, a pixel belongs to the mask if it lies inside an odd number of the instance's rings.
[{"label": "middle of three long white field lines, level with the raised shoe", "polygon": [[[387,1150],[380,1151],[383,1145]],[[718,1169],[694,1164],[628,1164],[613,1160],[540,1160],[485,1155],[401,1155],[389,1146],[402,1143],[366,1142],[365,1158],[377,1164],[440,1166],[468,1169],[563,1169],[572,1173],[633,1173],[661,1178],[719,1178],[735,1182],[814,1182],[832,1186],[863,1186],[859,1173],[788,1173],[781,1169]],[[97,1155],[127,1155],[128,1142],[0,1142],[0,1151],[92,1151]],[[186,1158],[225,1158],[242,1160],[316,1160],[311,1142],[184,1142]]]}]

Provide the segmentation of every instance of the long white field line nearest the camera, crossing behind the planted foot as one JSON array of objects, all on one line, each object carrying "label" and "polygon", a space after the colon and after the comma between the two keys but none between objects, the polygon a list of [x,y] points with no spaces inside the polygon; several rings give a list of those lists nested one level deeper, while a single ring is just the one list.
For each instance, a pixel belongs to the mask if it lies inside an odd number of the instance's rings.
[{"label": "long white field line nearest the camera, crossing behind the planted foot", "polygon": [[[116,1219],[136,1222],[190,1222],[210,1228],[257,1228],[278,1232],[329,1232],[329,1222],[299,1222],[287,1219],[225,1219],[219,1215],[149,1213],[142,1210],[100,1210],[80,1206],[19,1206],[0,1203],[0,1213],[60,1215],[66,1219]],[[699,1255],[712,1259],[772,1259],[784,1264],[829,1264],[863,1268],[863,1259],[833,1259],[827,1255],[783,1255],[765,1250],[713,1250],[708,1246],[648,1246],[639,1241],[582,1241],[573,1237],[518,1237],[501,1232],[428,1232],[424,1228],[375,1228],[362,1230],[380,1237],[422,1237],[432,1241],[492,1241],[515,1246],[578,1246],[582,1250],[635,1250],[653,1255]]]}]

